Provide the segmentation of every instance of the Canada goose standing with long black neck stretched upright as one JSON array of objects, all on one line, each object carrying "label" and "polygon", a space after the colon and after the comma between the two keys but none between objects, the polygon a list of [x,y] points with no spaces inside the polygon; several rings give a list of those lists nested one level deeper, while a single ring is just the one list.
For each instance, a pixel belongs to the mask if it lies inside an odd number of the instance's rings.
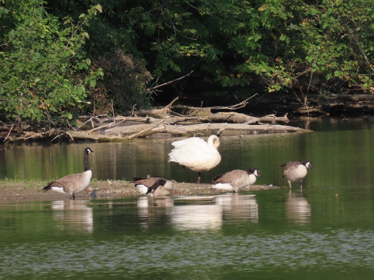
[{"label": "Canada goose standing with long black neck stretched upright", "polygon": [[89,185],[92,177],[92,171],[88,162],[88,154],[93,153],[90,148],[85,149],[85,171],[78,174],[70,174],[58,180],[49,182],[44,191],[53,190],[55,192],[67,193],[70,199],[75,199],[77,193],[83,192]]}]

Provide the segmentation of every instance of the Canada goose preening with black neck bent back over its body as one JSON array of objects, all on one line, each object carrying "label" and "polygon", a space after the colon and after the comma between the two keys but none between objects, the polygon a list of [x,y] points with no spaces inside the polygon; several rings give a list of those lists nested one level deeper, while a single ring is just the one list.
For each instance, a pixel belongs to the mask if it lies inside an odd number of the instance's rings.
[{"label": "Canada goose preening with black neck bent back over its body", "polygon": [[170,195],[174,189],[174,183],[162,178],[132,178],[132,183],[141,195],[164,196]]}]

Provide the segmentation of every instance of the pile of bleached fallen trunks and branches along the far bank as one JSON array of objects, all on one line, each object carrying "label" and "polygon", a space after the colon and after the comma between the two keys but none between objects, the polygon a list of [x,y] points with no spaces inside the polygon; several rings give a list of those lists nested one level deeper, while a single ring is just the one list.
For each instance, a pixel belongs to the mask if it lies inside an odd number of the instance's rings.
[{"label": "pile of bleached fallen trunks and branches along the far bank", "polygon": [[[80,116],[79,125],[65,131],[33,131],[23,135],[11,135],[19,129],[9,126],[9,128],[4,130],[4,134],[6,132],[6,139],[9,141],[42,138],[52,140],[91,139],[96,141],[124,141],[137,137],[147,137],[156,133],[193,136],[196,133],[204,131],[212,131],[212,133],[218,135],[224,133],[224,131],[237,131],[238,134],[244,131],[263,131],[265,133],[270,131],[310,131],[283,125],[289,122],[287,114],[284,116],[267,115],[257,118],[237,112],[212,112],[221,109],[236,110],[242,108],[248,103],[248,99],[230,107],[211,108],[172,106],[177,99],[175,98],[164,108],[134,111],[128,117],[117,116],[105,118],[104,116]],[[183,108],[183,114],[180,113],[182,112],[181,108]],[[179,113],[174,110],[179,111]],[[186,113],[190,113],[190,115]],[[156,116],[159,118],[156,118]],[[282,125],[278,123],[282,123]]]}]

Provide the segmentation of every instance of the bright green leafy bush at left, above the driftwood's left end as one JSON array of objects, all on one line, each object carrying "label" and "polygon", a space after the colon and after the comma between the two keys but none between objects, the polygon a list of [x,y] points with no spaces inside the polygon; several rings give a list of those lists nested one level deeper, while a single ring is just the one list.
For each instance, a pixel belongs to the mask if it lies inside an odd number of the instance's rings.
[{"label": "bright green leafy bush at left, above the driftwood's left end", "polygon": [[[13,14],[14,28],[5,35],[0,52],[0,111],[8,121],[70,121],[85,108],[87,85],[102,75],[87,71],[85,80],[74,80],[79,71],[89,69],[91,61],[82,49],[89,37],[83,27],[101,10],[94,6],[77,22],[66,18],[61,25],[45,12],[44,2],[25,1]],[[18,2],[17,2],[18,3]],[[22,2],[24,3],[24,2]]]}]

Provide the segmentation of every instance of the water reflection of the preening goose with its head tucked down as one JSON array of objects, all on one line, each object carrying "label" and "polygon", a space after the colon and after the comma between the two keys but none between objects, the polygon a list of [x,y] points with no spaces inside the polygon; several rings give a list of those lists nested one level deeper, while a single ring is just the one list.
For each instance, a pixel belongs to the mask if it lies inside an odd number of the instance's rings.
[{"label": "water reflection of the preening goose with its head tucked down", "polygon": [[[173,206],[174,199],[172,197],[138,197],[137,215],[141,219],[141,227],[149,228],[150,225],[160,224],[160,221],[169,222]],[[166,217],[166,219],[160,217]]]}]

